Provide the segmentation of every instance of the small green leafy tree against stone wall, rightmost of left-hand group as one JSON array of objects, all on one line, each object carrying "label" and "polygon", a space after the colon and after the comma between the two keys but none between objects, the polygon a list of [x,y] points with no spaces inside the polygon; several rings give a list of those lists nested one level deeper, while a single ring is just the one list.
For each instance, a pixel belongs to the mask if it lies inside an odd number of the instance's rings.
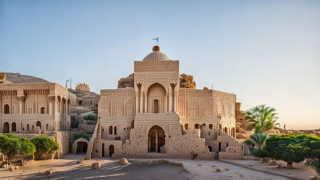
[{"label": "small green leafy tree against stone wall, rightmost of left-hand group", "polygon": [[36,146],[35,159],[40,159],[45,154],[53,154],[59,149],[59,144],[48,136],[37,136],[31,142]]}]

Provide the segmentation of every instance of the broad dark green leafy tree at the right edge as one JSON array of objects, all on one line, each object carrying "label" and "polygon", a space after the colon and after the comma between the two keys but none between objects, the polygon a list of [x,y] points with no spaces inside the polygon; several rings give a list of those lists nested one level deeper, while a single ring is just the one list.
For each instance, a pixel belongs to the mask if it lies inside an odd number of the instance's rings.
[{"label": "broad dark green leafy tree at the right edge", "polygon": [[263,150],[272,159],[299,163],[306,158],[319,158],[320,138],[305,134],[272,135]]}]

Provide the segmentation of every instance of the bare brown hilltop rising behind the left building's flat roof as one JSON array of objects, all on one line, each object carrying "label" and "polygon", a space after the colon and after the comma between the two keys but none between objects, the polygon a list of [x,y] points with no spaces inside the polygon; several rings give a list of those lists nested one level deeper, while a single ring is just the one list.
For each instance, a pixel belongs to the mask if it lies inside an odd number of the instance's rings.
[{"label": "bare brown hilltop rising behind the left building's flat roof", "polygon": [[6,80],[12,83],[50,83],[34,76],[21,75],[20,73],[5,72]]}]

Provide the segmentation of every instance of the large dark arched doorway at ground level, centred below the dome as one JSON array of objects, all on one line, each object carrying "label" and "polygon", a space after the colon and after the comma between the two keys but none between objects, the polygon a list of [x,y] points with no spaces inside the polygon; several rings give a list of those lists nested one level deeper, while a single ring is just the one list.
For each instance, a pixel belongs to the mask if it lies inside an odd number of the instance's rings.
[{"label": "large dark arched doorway at ground level, centred below the dome", "polygon": [[165,135],[160,126],[153,126],[149,130],[148,152],[165,153]]}]

